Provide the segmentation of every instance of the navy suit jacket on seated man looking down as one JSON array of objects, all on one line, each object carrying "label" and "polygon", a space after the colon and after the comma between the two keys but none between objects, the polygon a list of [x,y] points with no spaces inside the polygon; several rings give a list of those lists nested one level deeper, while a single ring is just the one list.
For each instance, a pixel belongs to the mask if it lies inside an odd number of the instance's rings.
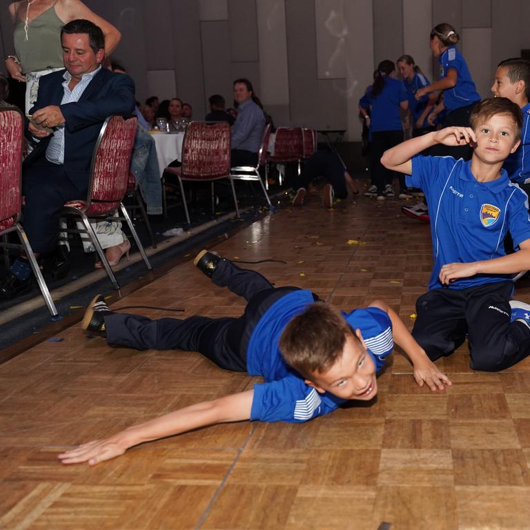
[{"label": "navy suit jacket on seated man looking down", "polygon": [[[64,124],[63,168],[68,178],[79,190],[86,190],[90,177],[90,163],[101,125],[110,115],[129,117],[135,110],[135,84],[125,74],[101,68],[86,87],[79,101],[61,105],[64,95],[63,74],[59,70],[41,77],[37,102],[30,114],[48,105],[61,108]],[[46,157],[50,143],[46,137],[26,157],[24,168],[38,164]]]}]

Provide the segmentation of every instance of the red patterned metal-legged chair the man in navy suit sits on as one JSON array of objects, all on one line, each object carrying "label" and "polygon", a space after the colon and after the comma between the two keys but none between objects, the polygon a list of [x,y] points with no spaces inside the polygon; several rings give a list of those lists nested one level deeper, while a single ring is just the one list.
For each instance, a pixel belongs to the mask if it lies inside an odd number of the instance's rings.
[{"label": "red patterned metal-legged chair the man in navy suit sits on", "polygon": [[[92,155],[92,167],[90,169],[90,184],[86,200],[69,201],[64,204],[63,213],[79,215],[85,226],[84,233],[88,234],[92,244],[104,265],[105,271],[112,285],[119,289],[117,279],[110,268],[106,255],[97,240],[94,229],[89,219],[104,219],[113,217],[116,208],[126,220],[130,232],[133,234],[141,257],[149,270],[152,269],[144,247],[130,220],[129,214],[124,206],[123,199],[127,192],[130,153],[135,142],[137,119],[125,120],[121,116],[108,117],[99,133],[94,155]],[[79,230],[67,230],[77,232]]]}]

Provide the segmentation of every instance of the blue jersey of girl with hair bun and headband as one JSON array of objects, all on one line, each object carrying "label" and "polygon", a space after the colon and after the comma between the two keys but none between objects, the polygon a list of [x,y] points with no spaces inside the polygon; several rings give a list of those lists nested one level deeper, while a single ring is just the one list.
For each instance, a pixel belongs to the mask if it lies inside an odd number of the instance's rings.
[{"label": "blue jersey of girl with hair bun and headband", "polygon": [[447,48],[440,57],[440,79],[447,77],[447,70],[453,68],[457,72],[456,85],[444,90],[444,106],[448,112],[480,101],[467,63],[462,54],[454,47]]}]

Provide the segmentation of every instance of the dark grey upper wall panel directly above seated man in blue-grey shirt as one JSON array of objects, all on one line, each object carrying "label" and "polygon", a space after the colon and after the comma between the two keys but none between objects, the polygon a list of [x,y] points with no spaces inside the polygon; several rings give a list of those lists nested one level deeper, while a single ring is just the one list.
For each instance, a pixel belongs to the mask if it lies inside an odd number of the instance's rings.
[{"label": "dark grey upper wall panel directly above seated man in blue-grey shirt", "polygon": [[233,61],[259,61],[255,0],[228,0]]}]

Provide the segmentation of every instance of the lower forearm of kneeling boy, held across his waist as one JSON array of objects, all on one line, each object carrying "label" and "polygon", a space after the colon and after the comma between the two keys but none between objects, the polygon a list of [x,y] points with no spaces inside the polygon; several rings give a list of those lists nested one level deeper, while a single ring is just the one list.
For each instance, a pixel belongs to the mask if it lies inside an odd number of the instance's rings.
[{"label": "lower forearm of kneeling boy, held across his waist", "polygon": [[517,274],[530,270],[530,239],[519,244],[520,250],[495,259],[480,262],[447,263],[440,268],[440,282],[449,285],[453,280],[475,274]]}]

